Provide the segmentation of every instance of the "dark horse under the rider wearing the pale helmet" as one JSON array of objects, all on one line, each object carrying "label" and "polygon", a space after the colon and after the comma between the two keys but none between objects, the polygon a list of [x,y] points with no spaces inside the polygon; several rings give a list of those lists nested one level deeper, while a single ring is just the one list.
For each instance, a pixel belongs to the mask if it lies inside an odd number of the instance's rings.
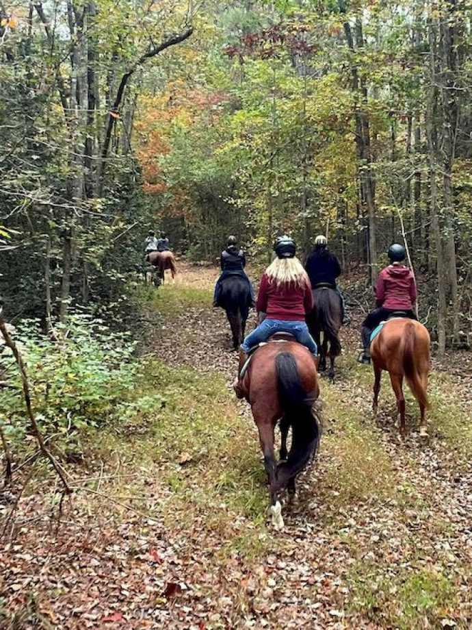
[{"label": "dark horse under the rider wearing the pale helmet", "polygon": [[[311,336],[315,340],[319,351],[319,371],[326,370],[326,356],[330,357],[330,381],[335,380],[335,358],[341,354],[339,329],[343,323],[341,297],[329,286],[313,289],[313,310],[306,317]],[[323,342],[321,342],[323,333]],[[328,343],[330,349],[328,352]]]}]

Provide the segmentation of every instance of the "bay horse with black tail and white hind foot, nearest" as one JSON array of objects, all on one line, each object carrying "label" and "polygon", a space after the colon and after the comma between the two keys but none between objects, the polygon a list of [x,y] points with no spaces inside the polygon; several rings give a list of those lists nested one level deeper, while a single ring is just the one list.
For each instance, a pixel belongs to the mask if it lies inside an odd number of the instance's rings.
[{"label": "bay horse with black tail and white hind foot, nearest", "polygon": [[[291,339],[291,336],[285,336]],[[241,354],[240,366],[245,355]],[[235,386],[238,398],[251,405],[254,423],[270,486],[270,511],[275,529],[284,522],[280,493],[287,488],[289,501],[295,495],[296,476],[316,453],[320,429],[313,409],[319,396],[313,355],[293,340],[270,340],[252,355],[246,373]],[[274,429],[280,420],[280,460],[274,455]],[[292,429],[290,451],[287,435]]]}]

